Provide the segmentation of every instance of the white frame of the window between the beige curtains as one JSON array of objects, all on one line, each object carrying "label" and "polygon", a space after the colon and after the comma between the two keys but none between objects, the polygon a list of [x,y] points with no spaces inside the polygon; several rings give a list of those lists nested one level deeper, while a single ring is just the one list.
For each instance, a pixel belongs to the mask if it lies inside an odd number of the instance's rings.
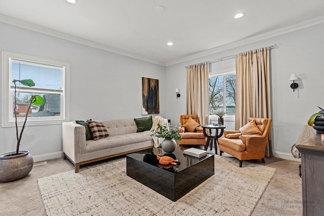
[{"label": "white frame of the window between the beige curtains", "polygon": [[[226,79],[224,78],[224,76],[228,76],[228,75],[235,75],[236,76],[236,69],[235,68],[228,68],[228,69],[224,69],[224,70],[214,70],[214,71],[210,71],[209,72],[209,77],[214,77],[214,76],[223,76],[223,105],[225,105],[226,107]],[[224,121],[235,121],[235,115],[224,115],[223,116]],[[218,116],[217,115],[209,115],[209,119],[210,120],[218,120]]]}]

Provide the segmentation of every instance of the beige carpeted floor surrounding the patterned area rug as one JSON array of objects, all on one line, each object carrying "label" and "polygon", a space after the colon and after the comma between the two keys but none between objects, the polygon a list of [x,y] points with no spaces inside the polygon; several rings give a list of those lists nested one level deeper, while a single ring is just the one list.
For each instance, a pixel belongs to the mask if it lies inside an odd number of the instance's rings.
[{"label": "beige carpeted floor surrounding the patterned area rug", "polygon": [[[224,154],[224,156],[230,157],[227,154]],[[300,162],[274,157],[265,158],[265,161],[265,164],[261,163],[261,160],[250,161],[254,164],[276,168],[274,176],[251,215],[302,215],[302,179],[298,176]],[[238,166],[238,160],[236,160],[236,163]],[[102,163],[98,165],[100,164]],[[243,162],[243,166],[246,166],[245,162]],[[83,166],[80,170],[87,167]],[[0,210],[2,215],[46,215],[41,192],[38,188],[38,179],[61,174],[73,170],[73,168],[68,160],[61,158],[49,160],[45,165],[34,166],[30,174],[24,179],[0,183]],[[107,215],[109,215],[108,212]]]}]

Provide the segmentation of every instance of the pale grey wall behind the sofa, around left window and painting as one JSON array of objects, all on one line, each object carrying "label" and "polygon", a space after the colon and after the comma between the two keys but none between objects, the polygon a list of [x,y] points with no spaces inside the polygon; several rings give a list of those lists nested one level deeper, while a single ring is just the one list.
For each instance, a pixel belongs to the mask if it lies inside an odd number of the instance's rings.
[{"label": "pale grey wall behind the sofa, around left window and painting", "polygon": [[[142,117],[141,77],[159,79],[160,115],[166,113],[164,66],[3,23],[0,51],[70,63],[71,121]],[[0,153],[16,150],[15,135],[15,127],[0,128]],[[33,156],[62,151],[62,125],[27,126],[20,149]]]}]

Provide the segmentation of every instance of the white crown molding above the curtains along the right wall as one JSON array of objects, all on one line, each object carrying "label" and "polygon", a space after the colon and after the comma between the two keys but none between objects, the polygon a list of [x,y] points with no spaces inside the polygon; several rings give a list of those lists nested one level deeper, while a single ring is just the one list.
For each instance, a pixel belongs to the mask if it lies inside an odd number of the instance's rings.
[{"label": "white crown molding above the curtains along the right wall", "polygon": [[187,56],[187,57],[182,58],[182,59],[167,62],[166,66],[170,66],[170,65],[182,63],[182,62],[185,62],[185,61],[189,61],[189,60],[209,56],[209,55],[212,55],[212,54],[220,53],[220,52],[223,52],[223,51],[227,51],[227,50],[230,50],[230,49],[234,49],[234,48],[238,48],[238,47],[241,47],[241,46],[249,45],[249,44],[252,44],[254,42],[258,42],[258,41],[268,39],[268,38],[271,38],[271,37],[287,34],[287,33],[293,32],[293,31],[298,31],[298,30],[308,28],[308,27],[311,27],[311,26],[314,26],[314,25],[319,25],[319,24],[322,24],[322,23],[324,23],[324,16],[316,17],[314,19],[306,20],[306,21],[303,21],[303,22],[300,22],[300,23],[297,23],[297,24],[294,24],[294,25],[284,27],[284,28],[279,28],[279,29],[269,31],[269,32],[266,32],[266,33],[263,33],[263,34],[259,34],[259,35],[253,36],[253,37],[238,40],[238,41],[232,42],[230,44],[226,44],[226,45],[215,47],[215,48],[203,51],[203,52],[199,52],[199,53]]}]

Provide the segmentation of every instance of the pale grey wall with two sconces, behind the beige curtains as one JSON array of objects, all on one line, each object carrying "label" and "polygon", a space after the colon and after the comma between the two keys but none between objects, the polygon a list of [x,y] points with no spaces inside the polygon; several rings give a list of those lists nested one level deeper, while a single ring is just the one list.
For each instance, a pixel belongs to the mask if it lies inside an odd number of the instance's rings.
[{"label": "pale grey wall with two sconces, behind the beige curtains", "polygon": [[[272,150],[275,156],[284,157],[291,153],[291,147],[311,114],[324,107],[324,24],[305,28],[288,34],[272,37],[253,44],[190,60],[166,69],[167,112],[173,123],[186,113],[186,69],[185,66],[235,55],[240,52],[277,44],[279,49],[271,50],[271,103],[272,103]],[[235,66],[235,65],[234,65]],[[221,68],[221,67],[220,67]],[[215,70],[213,66],[213,70]],[[300,88],[290,88],[290,74],[297,73]],[[175,99],[178,88],[181,98]]]}]

